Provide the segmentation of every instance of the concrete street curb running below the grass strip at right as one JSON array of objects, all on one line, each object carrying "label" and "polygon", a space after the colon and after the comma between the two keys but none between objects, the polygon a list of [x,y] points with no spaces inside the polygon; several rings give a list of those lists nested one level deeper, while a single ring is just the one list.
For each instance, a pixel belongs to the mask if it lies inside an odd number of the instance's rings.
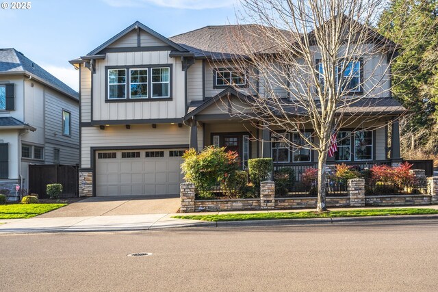
[{"label": "concrete street curb running below the grass strip at right", "polygon": [[[311,219],[275,219],[275,220],[244,220],[244,221],[219,221],[216,228],[239,226],[296,226],[309,224],[335,224],[342,222],[379,222],[379,221],[407,221],[407,220],[434,220],[438,215],[397,215],[397,216],[367,216],[367,217],[329,217]],[[202,223],[195,223],[190,227],[202,227]],[[204,225],[205,226],[205,225]],[[186,226],[179,226],[186,227]]]}]

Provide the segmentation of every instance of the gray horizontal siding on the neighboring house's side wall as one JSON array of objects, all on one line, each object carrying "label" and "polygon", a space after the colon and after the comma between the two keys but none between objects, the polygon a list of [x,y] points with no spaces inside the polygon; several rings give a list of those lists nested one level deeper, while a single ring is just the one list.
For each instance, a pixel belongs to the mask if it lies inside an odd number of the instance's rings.
[{"label": "gray horizontal siding on the neighboring house's side wall", "polygon": [[[53,148],[60,149],[61,164],[79,163],[79,109],[75,101],[63,97],[53,90],[44,92],[46,111],[46,163],[53,163]],[[71,135],[62,135],[62,111],[70,112]]]}]

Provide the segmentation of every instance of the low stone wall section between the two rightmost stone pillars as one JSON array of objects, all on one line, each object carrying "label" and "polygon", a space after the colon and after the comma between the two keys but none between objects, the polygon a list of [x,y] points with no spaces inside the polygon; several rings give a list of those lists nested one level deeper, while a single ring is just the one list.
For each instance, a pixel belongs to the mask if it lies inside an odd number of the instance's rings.
[{"label": "low stone wall section between the two rightmost stone pillars", "polygon": [[430,204],[428,195],[366,196],[365,206],[412,206]]}]

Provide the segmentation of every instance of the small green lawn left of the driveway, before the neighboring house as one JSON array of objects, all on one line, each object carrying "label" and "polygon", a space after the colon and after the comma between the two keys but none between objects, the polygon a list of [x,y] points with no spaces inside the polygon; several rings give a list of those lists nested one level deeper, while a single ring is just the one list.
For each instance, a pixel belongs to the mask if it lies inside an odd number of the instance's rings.
[{"label": "small green lawn left of the driveway, before the neighboring house", "polygon": [[0,219],[30,218],[64,207],[66,204],[4,204],[0,205]]}]

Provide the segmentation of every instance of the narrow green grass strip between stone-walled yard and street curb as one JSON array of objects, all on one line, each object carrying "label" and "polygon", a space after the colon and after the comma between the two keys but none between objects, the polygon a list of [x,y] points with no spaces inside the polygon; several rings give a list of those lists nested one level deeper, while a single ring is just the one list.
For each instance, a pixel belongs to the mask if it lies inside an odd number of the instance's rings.
[{"label": "narrow green grass strip between stone-walled yard and street curb", "polygon": [[398,216],[398,215],[430,215],[438,214],[436,209],[420,208],[391,208],[391,209],[364,209],[327,212],[273,212],[273,213],[232,213],[219,215],[177,215],[172,218],[203,220],[212,222],[246,221],[246,220],[279,220],[279,219],[309,219],[330,217],[367,217],[367,216]]}]

